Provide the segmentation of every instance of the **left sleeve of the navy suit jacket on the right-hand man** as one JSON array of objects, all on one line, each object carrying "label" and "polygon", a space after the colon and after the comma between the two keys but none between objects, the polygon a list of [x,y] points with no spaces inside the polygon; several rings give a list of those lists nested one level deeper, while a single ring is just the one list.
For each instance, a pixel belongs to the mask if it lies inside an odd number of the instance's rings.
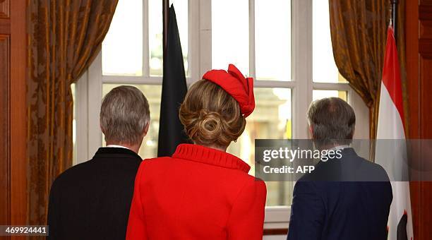
[{"label": "left sleeve of the navy suit jacket on the right-hand man", "polygon": [[287,240],[321,239],[325,207],[312,182],[297,181],[291,206]]}]

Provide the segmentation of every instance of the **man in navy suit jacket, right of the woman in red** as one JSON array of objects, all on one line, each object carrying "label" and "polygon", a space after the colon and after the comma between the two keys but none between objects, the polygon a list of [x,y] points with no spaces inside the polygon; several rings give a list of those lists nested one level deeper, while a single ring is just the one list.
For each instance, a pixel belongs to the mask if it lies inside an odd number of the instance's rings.
[{"label": "man in navy suit jacket, right of the woman in red", "polygon": [[[349,148],[356,116],[330,97],[308,109],[311,136],[320,150],[340,150],[294,186],[288,240],[385,240],[392,188],[383,167]],[[337,157],[335,157],[337,156]]]}]

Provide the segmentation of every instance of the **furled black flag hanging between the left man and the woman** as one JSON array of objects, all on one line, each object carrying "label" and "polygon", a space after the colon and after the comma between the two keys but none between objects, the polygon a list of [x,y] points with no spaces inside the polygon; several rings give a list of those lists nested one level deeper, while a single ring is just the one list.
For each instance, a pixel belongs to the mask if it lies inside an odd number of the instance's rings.
[{"label": "furled black flag hanging between the left man and the woman", "polygon": [[179,119],[179,107],[188,89],[186,86],[176,12],[172,5],[169,7],[167,46],[165,47],[165,51],[157,157],[171,156],[176,150],[177,145],[188,142],[183,125],[181,125]]}]

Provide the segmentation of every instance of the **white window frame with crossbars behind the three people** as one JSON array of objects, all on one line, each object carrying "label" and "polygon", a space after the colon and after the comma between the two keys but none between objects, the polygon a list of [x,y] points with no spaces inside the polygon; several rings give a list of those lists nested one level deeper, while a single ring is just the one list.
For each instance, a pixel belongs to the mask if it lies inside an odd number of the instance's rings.
[{"label": "white window frame with crossbars behind the three people", "polygon": [[[188,0],[188,85],[199,80],[212,68],[212,0]],[[255,1],[249,0],[249,76],[255,78]],[[161,2],[162,4],[162,2]],[[162,16],[161,16],[162,18]],[[143,42],[148,42],[148,0],[143,0]],[[196,47],[198,46],[198,47]],[[315,83],[312,80],[312,0],[292,0],[292,80],[256,80],[256,88],[289,88],[292,90],[292,136],[308,138],[306,111],[313,90],[342,90],[356,112],[354,138],[368,138],[368,108],[348,83]],[[162,77],[149,76],[148,44],[143,44],[143,76],[103,76],[102,54],[76,84],[76,162],[88,160],[102,145],[99,112],[102,85],[161,85]],[[91,80],[89,80],[91,79]],[[267,207],[265,229],[286,228],[290,206]]]}]

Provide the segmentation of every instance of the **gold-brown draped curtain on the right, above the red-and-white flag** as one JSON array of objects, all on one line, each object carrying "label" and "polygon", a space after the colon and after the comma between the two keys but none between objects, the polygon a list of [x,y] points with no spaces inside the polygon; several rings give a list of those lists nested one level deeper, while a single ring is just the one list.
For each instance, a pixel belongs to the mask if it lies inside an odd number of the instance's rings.
[{"label": "gold-brown draped curtain on the right, above the red-and-white flag", "polygon": [[[329,0],[333,55],[340,74],[369,108],[369,136],[376,138],[380,80],[390,22],[390,0]],[[399,1],[397,44],[404,82],[404,0]]]}]

